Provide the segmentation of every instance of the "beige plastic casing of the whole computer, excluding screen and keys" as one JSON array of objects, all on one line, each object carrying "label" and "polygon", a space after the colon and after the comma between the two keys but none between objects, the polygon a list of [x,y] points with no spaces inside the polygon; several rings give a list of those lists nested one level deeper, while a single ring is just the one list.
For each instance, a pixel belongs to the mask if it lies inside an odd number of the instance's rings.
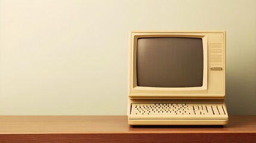
[{"label": "beige plastic casing of the whole computer, excluding screen and keys", "polygon": [[[152,88],[137,86],[137,39],[149,37],[202,38],[203,85],[195,88]],[[226,125],[222,119],[132,119],[132,103],[221,103],[225,100],[226,32],[225,31],[131,31],[129,35],[128,123],[129,125]],[[226,110],[226,109],[225,109]]]}]

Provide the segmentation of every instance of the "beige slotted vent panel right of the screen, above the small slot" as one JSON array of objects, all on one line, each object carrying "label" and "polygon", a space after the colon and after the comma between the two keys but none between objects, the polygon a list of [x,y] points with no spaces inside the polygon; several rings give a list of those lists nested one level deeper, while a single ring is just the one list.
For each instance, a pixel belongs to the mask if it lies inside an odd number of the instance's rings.
[{"label": "beige slotted vent panel right of the screen, above the small slot", "polygon": [[222,64],[223,62],[223,43],[210,43],[210,62],[211,64]]}]

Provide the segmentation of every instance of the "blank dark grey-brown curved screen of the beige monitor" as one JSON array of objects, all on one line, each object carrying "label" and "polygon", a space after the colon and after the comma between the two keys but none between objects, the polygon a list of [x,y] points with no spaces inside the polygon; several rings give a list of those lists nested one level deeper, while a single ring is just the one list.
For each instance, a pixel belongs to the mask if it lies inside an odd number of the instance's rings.
[{"label": "blank dark grey-brown curved screen of the beige monitor", "polygon": [[137,85],[198,87],[203,83],[201,38],[139,38]]}]

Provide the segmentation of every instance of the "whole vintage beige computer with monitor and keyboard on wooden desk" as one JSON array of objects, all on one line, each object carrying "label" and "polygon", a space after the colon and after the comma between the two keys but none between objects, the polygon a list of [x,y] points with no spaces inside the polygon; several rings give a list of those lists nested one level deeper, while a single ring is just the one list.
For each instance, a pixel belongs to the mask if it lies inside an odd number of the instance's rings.
[{"label": "whole vintage beige computer with monitor and keyboard on wooden desk", "polygon": [[131,31],[129,125],[226,125],[226,32]]}]

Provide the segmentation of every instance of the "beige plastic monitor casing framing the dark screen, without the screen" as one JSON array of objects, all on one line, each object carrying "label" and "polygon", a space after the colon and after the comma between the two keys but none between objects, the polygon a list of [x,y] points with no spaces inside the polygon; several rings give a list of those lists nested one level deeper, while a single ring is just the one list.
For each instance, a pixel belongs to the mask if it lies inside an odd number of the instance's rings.
[{"label": "beige plastic monitor casing framing the dark screen, without the screen", "polygon": [[[137,86],[136,52],[137,38],[147,37],[202,38],[203,86],[195,88],[151,88]],[[218,32],[171,32],[131,31],[129,48],[129,98],[218,98],[225,96],[225,49],[226,33]],[[220,67],[222,70],[211,70]]]}]

